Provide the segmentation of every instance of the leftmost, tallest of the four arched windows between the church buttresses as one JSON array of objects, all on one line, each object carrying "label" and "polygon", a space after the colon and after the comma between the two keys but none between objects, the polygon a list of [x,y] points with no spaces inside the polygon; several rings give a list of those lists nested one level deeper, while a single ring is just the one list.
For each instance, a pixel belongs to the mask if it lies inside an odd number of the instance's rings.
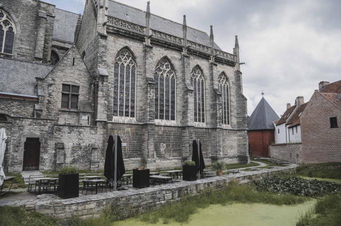
[{"label": "leftmost, tallest of the four arched windows between the church buttresses", "polygon": [[135,117],[136,63],[131,52],[124,48],[114,63],[113,115]]}]

